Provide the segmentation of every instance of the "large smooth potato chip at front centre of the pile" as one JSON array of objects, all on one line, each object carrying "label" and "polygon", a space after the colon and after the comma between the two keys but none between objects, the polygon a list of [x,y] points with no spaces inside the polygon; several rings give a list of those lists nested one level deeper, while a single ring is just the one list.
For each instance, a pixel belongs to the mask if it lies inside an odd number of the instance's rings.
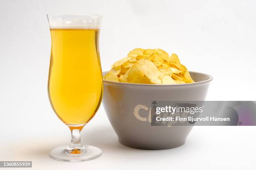
[{"label": "large smooth potato chip at front centre of the pile", "polygon": [[153,62],[141,59],[138,60],[131,68],[128,74],[128,82],[142,83],[148,82],[161,84],[163,74],[157,69]]}]

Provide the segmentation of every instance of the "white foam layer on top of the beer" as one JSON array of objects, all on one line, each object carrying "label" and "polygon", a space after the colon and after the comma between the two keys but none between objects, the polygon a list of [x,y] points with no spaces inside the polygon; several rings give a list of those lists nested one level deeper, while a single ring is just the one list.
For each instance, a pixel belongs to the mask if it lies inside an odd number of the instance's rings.
[{"label": "white foam layer on top of the beer", "polygon": [[51,29],[100,29],[101,16],[48,16]]}]

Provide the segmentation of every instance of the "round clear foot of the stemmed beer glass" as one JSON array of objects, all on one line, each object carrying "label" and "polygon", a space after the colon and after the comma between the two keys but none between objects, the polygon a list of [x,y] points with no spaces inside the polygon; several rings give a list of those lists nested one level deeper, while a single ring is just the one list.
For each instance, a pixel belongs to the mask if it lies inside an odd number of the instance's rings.
[{"label": "round clear foot of the stemmed beer glass", "polygon": [[52,150],[50,157],[65,162],[82,162],[98,158],[101,154],[101,150],[95,146],[84,145],[83,149],[79,150],[70,150],[68,146],[61,146]]}]

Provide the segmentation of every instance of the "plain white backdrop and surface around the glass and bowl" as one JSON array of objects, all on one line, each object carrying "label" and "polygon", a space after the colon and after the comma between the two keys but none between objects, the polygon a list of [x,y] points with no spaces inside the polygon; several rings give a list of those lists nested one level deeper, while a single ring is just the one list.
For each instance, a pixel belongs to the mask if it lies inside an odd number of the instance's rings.
[{"label": "plain white backdrop and surface around the glass and bowl", "polygon": [[33,169],[255,169],[256,127],[195,127],[182,147],[137,150],[118,143],[101,106],[82,132],[96,160],[64,163],[49,151],[70,140],[49,104],[51,39],[46,14],[102,14],[102,70],[136,47],[177,53],[214,77],[207,100],[255,100],[253,0],[0,0],[0,160]]}]

